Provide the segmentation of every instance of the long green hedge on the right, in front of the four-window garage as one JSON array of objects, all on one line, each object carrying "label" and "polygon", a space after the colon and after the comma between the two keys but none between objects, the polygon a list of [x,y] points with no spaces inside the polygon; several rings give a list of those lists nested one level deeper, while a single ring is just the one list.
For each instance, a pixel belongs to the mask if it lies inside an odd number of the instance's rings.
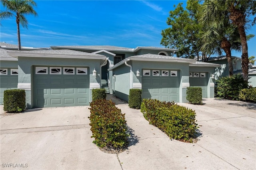
[{"label": "long green hedge on the right, in front of the four-window garage", "polygon": [[143,99],[140,111],[151,125],[160,128],[170,138],[192,142],[198,128],[195,111],[156,99]]}]

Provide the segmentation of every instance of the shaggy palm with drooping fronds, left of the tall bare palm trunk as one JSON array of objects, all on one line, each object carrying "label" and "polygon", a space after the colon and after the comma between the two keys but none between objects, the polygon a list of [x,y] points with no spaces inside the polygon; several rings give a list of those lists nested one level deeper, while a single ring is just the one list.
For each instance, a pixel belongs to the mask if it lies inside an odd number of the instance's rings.
[{"label": "shaggy palm with drooping fronds, left of the tall bare palm trunk", "polygon": [[202,36],[203,45],[202,51],[213,51],[222,55],[222,50],[226,53],[228,60],[228,75],[233,75],[233,63],[231,49],[241,51],[241,43],[239,41],[238,29],[234,27],[228,18],[228,12],[216,11],[216,18],[218,21],[211,20],[209,15],[205,15],[208,12],[208,7],[214,6],[213,1],[206,1],[202,4],[200,22],[204,25],[204,33]]}]

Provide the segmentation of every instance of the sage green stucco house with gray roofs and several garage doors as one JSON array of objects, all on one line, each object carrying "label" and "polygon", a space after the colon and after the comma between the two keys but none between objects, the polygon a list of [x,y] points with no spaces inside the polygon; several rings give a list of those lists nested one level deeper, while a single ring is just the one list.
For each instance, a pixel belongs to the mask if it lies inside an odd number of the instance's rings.
[{"label": "sage green stucco house with gray roofs and several garage doors", "polygon": [[125,101],[131,88],[142,89],[143,98],[161,101],[187,102],[189,86],[202,87],[204,98],[214,97],[212,74],[220,65],[172,57],[176,51],[83,45],[6,53],[18,64],[17,88],[25,89],[28,108],[89,105],[97,88]]}]

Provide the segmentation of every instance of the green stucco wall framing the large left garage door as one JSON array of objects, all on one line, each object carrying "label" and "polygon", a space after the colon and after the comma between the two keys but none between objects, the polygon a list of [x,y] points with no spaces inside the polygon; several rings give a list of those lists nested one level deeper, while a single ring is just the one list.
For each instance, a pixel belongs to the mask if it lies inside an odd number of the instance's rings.
[{"label": "green stucco wall framing the large left garage door", "polygon": [[[90,83],[100,84],[100,60],[99,59],[63,59],[63,58],[36,58],[36,57],[19,57],[18,58],[18,83],[32,84],[32,66],[66,66],[66,67],[89,67]],[[97,71],[97,76],[92,75],[92,71]],[[25,89],[26,90],[26,89]],[[28,109],[33,107],[33,94],[31,90],[26,90],[26,102]],[[92,93],[90,90],[90,101],[92,101]]]}]

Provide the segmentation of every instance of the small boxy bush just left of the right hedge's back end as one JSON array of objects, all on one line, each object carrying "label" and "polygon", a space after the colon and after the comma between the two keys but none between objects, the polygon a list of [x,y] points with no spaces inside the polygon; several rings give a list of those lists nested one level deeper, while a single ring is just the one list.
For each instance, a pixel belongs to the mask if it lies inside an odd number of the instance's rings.
[{"label": "small boxy bush just left of the right hedge's back end", "polygon": [[140,109],[142,89],[130,89],[129,92],[129,107]]}]

